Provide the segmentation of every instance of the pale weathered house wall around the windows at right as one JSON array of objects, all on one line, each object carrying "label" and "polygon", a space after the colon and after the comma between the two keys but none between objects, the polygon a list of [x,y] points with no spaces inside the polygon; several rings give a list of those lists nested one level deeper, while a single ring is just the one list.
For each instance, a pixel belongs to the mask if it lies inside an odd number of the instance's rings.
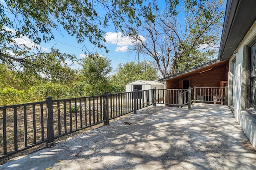
[{"label": "pale weathered house wall around the windows at right", "polygon": [[[246,70],[247,65],[247,45],[256,37],[256,21],[240,42],[237,49],[235,50],[235,55],[230,58],[230,70],[229,70],[229,98],[228,103],[232,103],[232,97],[234,95],[234,116],[238,123],[241,125],[244,133],[252,143],[252,146],[256,149],[256,123],[255,118],[252,117],[246,111],[246,90],[248,84],[248,71]],[[236,75],[232,74],[232,61],[235,59]],[[233,83],[234,86],[233,86]],[[233,90],[234,89],[234,90]]]}]

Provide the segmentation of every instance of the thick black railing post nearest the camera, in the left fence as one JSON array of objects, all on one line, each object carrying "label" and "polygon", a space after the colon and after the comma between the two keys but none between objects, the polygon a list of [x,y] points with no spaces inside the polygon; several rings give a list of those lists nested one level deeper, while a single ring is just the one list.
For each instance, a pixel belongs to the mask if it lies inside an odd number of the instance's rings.
[{"label": "thick black railing post nearest the camera, in the left fence", "polygon": [[56,145],[54,141],[54,131],[53,131],[53,110],[52,110],[52,97],[48,96],[46,98],[46,115],[47,115],[47,139],[46,147],[50,148]]}]

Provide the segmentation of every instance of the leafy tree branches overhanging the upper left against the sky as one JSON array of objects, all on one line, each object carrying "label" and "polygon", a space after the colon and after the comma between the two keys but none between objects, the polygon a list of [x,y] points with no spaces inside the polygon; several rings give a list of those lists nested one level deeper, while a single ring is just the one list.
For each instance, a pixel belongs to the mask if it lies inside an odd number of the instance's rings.
[{"label": "leafy tree branches overhanging the upper left against the sky", "polygon": [[[141,20],[154,21],[152,8],[156,0],[4,0],[0,2],[0,61],[16,72],[34,72],[60,78],[59,61],[74,61],[73,55],[52,49],[42,51],[40,43],[54,39],[54,31],[61,28],[76,37],[86,49],[88,40],[99,49],[104,46],[103,29],[114,24],[116,30],[136,34]],[[111,25],[112,26],[112,25]],[[30,45],[19,43],[27,39]],[[49,56],[51,56],[49,58]],[[54,60],[52,60],[54,57]],[[57,63],[54,64],[54,63]],[[51,65],[53,64],[53,65]],[[25,74],[27,75],[27,74]]]}]

